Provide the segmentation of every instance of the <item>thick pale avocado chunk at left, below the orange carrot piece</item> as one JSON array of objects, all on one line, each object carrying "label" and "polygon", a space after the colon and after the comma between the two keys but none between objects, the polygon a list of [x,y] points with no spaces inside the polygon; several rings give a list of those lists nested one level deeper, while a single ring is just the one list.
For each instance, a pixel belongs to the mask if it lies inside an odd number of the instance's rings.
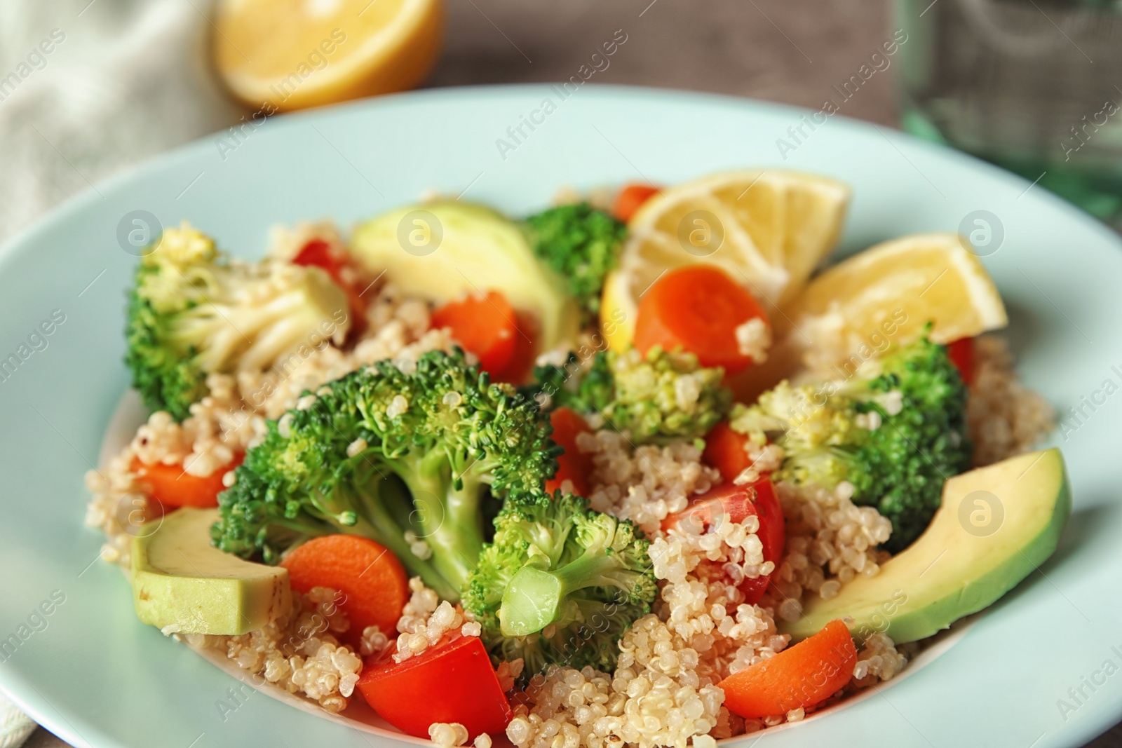
[{"label": "thick pale avocado chunk at left, below the orange carrot piece", "polygon": [[137,618],[184,634],[237,635],[288,610],[288,571],[212,546],[210,528],[217,520],[218,509],[183,507],[166,515],[154,533],[132,538]]}]

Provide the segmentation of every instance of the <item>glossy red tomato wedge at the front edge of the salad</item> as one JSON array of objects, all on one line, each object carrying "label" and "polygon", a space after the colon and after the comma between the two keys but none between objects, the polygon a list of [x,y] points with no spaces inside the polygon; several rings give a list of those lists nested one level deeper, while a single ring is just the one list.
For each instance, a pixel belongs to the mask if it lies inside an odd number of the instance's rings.
[{"label": "glossy red tomato wedge at the front edge of the salad", "polygon": [[386,657],[369,663],[358,690],[374,711],[406,735],[429,738],[433,722],[459,722],[476,736],[502,733],[511,721],[487,648],[479,637],[461,636],[403,663]]}]

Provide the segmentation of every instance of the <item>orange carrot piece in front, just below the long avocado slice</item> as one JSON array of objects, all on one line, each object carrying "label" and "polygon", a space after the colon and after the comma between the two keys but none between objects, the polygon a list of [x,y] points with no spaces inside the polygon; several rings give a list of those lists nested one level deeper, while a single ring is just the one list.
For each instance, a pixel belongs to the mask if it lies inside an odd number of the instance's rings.
[{"label": "orange carrot piece in front, just below the long avocado slice", "polygon": [[849,682],[857,647],[833,620],[808,639],[718,683],[729,711],[747,719],[785,714],[819,704]]}]

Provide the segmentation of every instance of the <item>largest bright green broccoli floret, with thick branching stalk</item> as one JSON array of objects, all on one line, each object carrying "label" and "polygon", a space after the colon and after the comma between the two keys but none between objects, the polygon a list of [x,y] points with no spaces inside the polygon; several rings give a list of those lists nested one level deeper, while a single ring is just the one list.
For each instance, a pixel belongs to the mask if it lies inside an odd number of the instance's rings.
[{"label": "largest bright green broccoli floret, with thick branching stalk", "polygon": [[549,501],[549,419],[460,351],[425,353],[411,373],[380,361],[314,400],[269,422],[220,495],[222,551],[276,563],[316,535],[364,535],[456,601],[484,545],[484,505]]}]

